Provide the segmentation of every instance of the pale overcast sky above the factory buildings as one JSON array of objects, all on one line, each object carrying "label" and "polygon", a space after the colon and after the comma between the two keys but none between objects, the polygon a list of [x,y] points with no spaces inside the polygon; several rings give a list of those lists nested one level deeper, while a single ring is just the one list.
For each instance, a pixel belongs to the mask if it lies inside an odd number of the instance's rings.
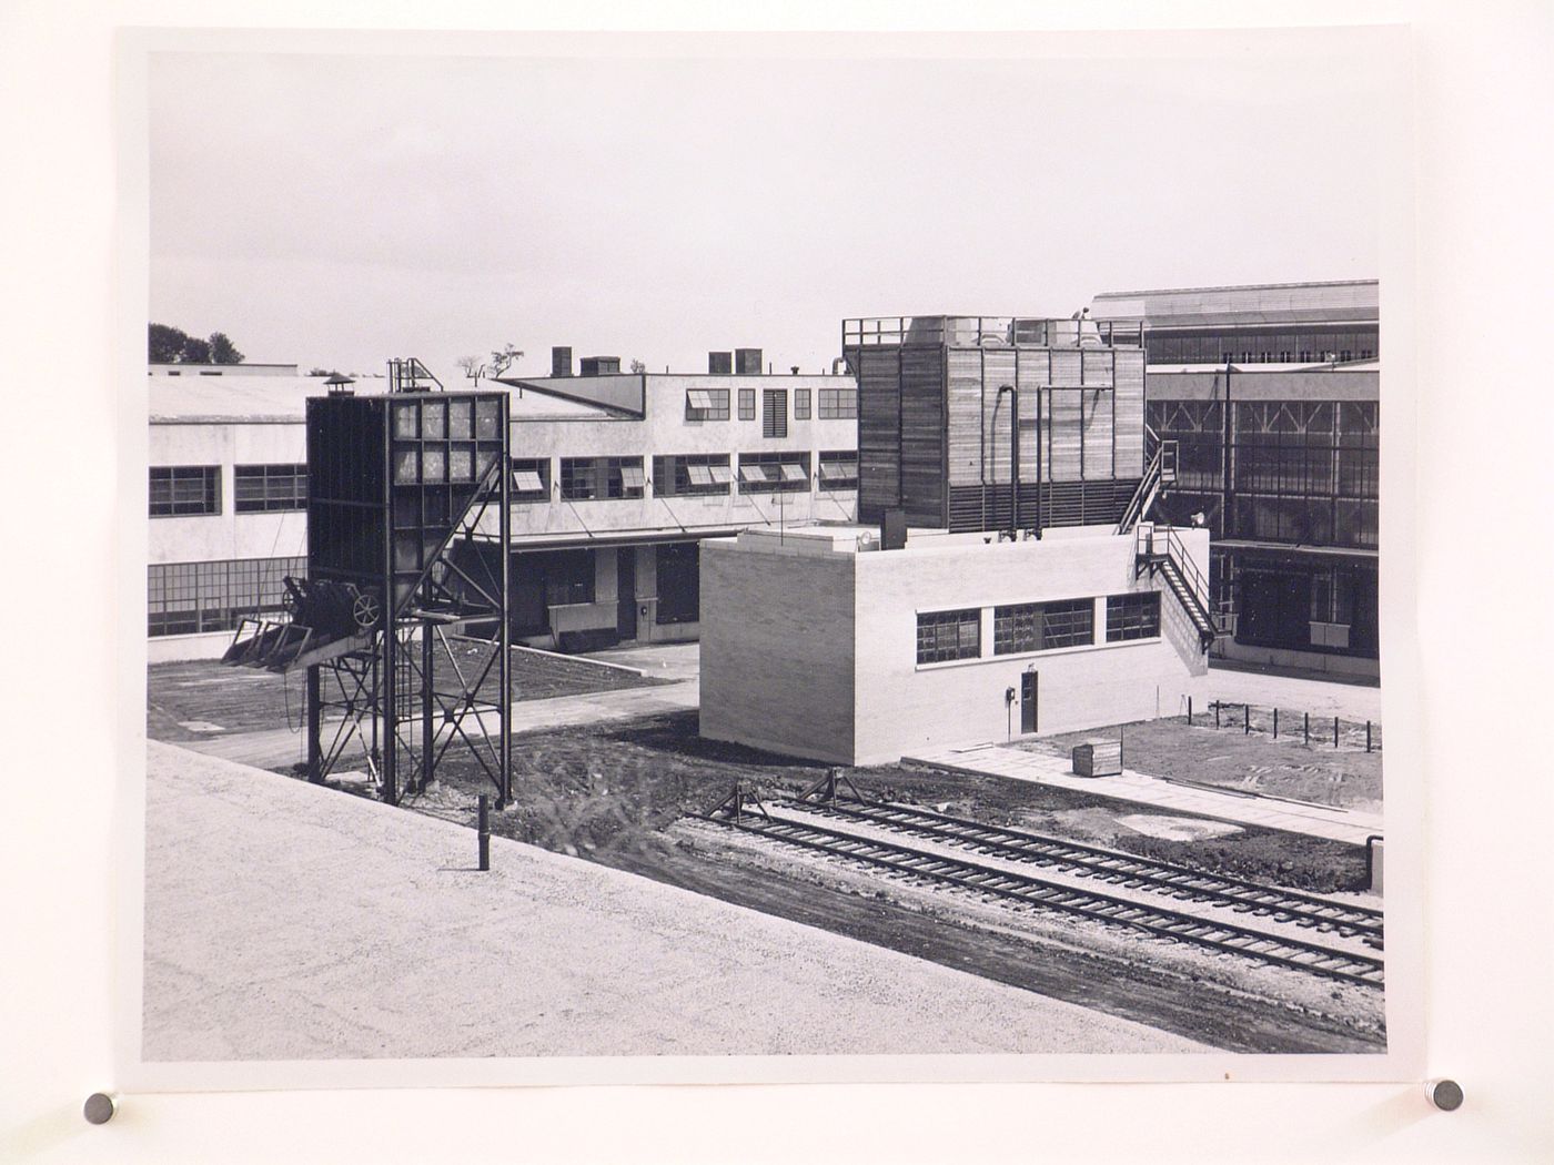
[{"label": "pale overcast sky above the factory buildings", "polygon": [[847,315],[1374,278],[1382,96],[1363,51],[157,54],[151,314],[449,382],[507,342],[817,371]]}]

